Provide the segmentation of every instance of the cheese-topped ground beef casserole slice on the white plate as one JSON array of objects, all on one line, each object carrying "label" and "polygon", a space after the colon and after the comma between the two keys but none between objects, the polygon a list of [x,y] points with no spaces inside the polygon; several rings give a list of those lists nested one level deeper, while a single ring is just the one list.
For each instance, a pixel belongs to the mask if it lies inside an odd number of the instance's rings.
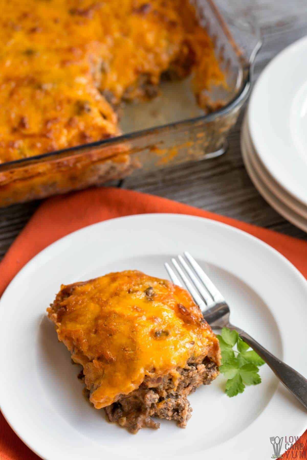
[{"label": "cheese-topped ground beef casserole slice on the white plate", "polygon": [[137,270],[62,285],[58,339],[83,366],[91,403],[130,432],[191,417],[187,396],[219,374],[220,347],[185,289]]}]

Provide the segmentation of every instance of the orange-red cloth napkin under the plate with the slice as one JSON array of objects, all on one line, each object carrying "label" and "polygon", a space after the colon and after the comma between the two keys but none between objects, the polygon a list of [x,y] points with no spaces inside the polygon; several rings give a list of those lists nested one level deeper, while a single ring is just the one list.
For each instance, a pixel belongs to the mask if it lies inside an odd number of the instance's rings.
[{"label": "orange-red cloth napkin under the plate with the slice", "polygon": [[[119,216],[144,213],[178,213],[206,217],[224,222],[268,243],[295,265],[307,278],[307,242],[281,235],[254,225],[218,216],[195,207],[157,196],[129,190],[102,188],[56,196],[43,202],[0,263],[0,294],[8,283],[35,254],[75,230]],[[293,435],[294,433],[289,433]],[[287,433],[284,433],[287,435]],[[303,447],[304,446],[304,447]],[[284,460],[307,460],[307,431],[295,451],[284,454]],[[0,414],[0,459],[38,459],[15,435]]]}]

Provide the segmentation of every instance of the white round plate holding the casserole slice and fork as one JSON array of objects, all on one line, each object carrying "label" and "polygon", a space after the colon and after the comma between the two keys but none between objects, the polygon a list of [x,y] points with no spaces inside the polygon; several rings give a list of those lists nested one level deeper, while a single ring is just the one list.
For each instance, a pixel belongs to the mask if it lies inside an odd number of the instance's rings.
[{"label": "white round plate holding the casserole slice and fork", "polygon": [[94,224],[36,255],[0,300],[1,410],[42,458],[262,460],[273,454],[270,437],[305,431],[305,409],[266,365],[262,383],[237,397],[226,396],[222,375],[198,388],[185,430],[162,420],[159,430],[131,435],[82,396],[79,368],[46,318],[60,284],[127,269],[167,278],[163,263],[184,250],[225,295],[232,322],[307,375],[307,282],[277,251],[225,224],[185,215]]}]

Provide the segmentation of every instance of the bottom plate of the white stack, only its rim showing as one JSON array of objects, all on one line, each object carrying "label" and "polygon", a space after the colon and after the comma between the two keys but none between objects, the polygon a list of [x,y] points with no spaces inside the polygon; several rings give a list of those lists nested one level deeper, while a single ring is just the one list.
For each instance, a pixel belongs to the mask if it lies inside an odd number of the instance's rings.
[{"label": "bottom plate of the white stack, only its rim showing", "polygon": [[295,210],[288,206],[285,201],[282,201],[277,195],[272,193],[272,190],[262,180],[259,175],[256,165],[256,153],[250,142],[248,132],[243,128],[241,132],[241,151],[246,170],[253,184],[263,198],[271,205],[279,214],[292,224],[307,232],[307,219],[296,213]]}]

